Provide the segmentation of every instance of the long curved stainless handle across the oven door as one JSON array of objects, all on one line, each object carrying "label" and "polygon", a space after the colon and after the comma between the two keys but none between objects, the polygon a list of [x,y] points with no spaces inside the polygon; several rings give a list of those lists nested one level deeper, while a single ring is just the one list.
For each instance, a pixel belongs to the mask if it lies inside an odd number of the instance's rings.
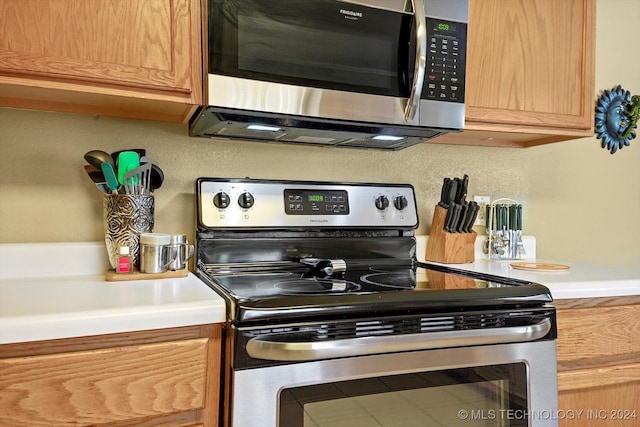
[{"label": "long curved stainless handle across the oven door", "polygon": [[[446,347],[505,344],[538,340],[551,330],[551,319],[527,326],[406,335],[368,336],[323,341],[279,341],[252,338],[247,353],[255,359],[309,361]],[[282,337],[282,335],[281,335]]]}]

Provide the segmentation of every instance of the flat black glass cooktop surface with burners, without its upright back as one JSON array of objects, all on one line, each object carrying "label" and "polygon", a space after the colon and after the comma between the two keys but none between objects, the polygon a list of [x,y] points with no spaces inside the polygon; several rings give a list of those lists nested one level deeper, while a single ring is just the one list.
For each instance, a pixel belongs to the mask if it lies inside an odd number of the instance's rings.
[{"label": "flat black glass cooktop surface with burners, without its upright back", "polygon": [[227,300],[227,315],[234,323],[522,308],[552,301],[549,290],[539,284],[430,267],[351,272],[342,278],[282,271],[199,274]]}]

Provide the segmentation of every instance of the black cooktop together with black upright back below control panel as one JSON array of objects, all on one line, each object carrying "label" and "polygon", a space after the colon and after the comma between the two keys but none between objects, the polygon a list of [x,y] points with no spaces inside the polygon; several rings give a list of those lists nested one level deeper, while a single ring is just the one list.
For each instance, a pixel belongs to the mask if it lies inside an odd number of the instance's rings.
[{"label": "black cooktop together with black upright back below control panel", "polygon": [[236,323],[552,301],[535,283],[418,263],[413,238],[201,240],[198,260],[196,273]]}]

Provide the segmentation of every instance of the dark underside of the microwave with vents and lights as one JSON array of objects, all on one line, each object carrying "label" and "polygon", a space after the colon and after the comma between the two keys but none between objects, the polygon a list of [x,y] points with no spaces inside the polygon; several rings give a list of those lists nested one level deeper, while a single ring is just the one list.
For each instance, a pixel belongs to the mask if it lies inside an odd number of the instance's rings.
[{"label": "dark underside of the microwave with vents and lights", "polygon": [[[250,124],[272,126],[249,129]],[[220,113],[205,109],[191,125],[191,136],[227,137],[291,144],[399,150],[446,133],[440,129],[387,128],[370,124],[305,120],[291,117]],[[376,135],[401,136],[401,140],[373,139]]]}]

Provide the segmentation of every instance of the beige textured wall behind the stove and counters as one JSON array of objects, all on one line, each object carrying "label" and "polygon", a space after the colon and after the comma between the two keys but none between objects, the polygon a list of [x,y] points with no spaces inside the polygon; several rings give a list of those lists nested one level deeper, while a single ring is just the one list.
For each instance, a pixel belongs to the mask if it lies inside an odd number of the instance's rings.
[{"label": "beige textured wall behind the stove and counters", "polygon": [[[619,16],[640,18],[640,2],[598,2],[598,28],[613,28]],[[598,93],[622,84],[640,94],[640,55],[607,48],[634,37],[631,25],[598,32]],[[166,174],[155,193],[159,232],[193,236],[197,177],[249,176],[411,183],[418,234],[428,234],[442,178],[467,173],[470,196],[524,204],[525,233],[537,237],[540,258],[640,269],[639,145],[615,155],[595,138],[524,150],[421,144],[382,152],[190,138],[186,125],[0,109],[0,242],[101,240],[101,194],[82,155],[145,148]]]}]

